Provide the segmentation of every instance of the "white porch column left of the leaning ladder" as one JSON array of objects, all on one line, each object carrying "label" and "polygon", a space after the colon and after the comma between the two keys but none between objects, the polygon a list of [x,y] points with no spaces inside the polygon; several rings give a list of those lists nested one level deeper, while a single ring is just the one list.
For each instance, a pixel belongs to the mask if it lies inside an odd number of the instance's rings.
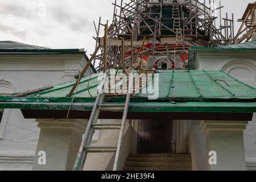
[{"label": "white porch column left of the leaning ladder", "polygon": [[[69,144],[79,149],[87,125],[86,119],[38,119],[40,127],[40,136],[38,147],[36,148],[35,162],[33,170],[51,171],[51,170],[72,170],[78,151],[69,147],[66,140],[65,129],[68,129]],[[46,152],[46,164],[39,164],[39,151]]]}]

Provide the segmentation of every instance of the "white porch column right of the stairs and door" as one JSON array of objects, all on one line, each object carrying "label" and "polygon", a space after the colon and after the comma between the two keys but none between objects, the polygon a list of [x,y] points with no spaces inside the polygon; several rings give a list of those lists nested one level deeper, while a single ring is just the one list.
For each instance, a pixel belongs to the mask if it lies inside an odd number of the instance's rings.
[{"label": "white porch column right of the stairs and door", "polygon": [[[207,155],[217,154],[217,164],[208,164],[209,171],[246,170],[243,131],[247,121],[202,121],[207,141]],[[210,158],[208,156],[207,160]]]}]

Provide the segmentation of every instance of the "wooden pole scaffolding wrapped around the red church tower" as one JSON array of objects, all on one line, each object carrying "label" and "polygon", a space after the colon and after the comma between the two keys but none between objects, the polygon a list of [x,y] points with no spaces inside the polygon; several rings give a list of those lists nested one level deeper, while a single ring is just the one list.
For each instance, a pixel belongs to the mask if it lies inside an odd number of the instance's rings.
[{"label": "wooden pole scaffolding wrapped around the red church tower", "polygon": [[97,71],[185,69],[191,46],[225,46],[234,38],[233,14],[232,19],[228,14],[221,18],[223,6],[220,2],[215,7],[214,0],[209,6],[206,0],[115,0],[113,5],[113,27],[108,34],[105,31],[106,42],[99,35],[109,22],[94,22],[96,49],[100,46],[93,60]]}]

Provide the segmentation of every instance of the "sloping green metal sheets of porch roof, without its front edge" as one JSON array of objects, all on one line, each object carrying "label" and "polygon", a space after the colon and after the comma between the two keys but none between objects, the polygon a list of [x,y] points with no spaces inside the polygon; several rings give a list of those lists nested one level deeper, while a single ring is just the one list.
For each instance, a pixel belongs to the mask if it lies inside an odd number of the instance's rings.
[{"label": "sloping green metal sheets of porch roof, without its front edge", "polygon": [[[159,100],[171,101],[220,101],[220,100],[255,100],[256,89],[243,84],[222,71],[158,71]],[[97,73],[92,77],[82,78],[77,98],[92,98],[97,96],[97,86],[103,74]],[[154,81],[153,81],[154,82]],[[52,89],[32,94],[28,97],[64,98],[70,92],[75,82],[57,85]],[[137,100],[148,98],[147,88],[142,88],[134,95]],[[145,92],[144,92],[145,91]],[[75,93],[74,93],[75,94]],[[39,99],[36,97],[36,99]]]}]

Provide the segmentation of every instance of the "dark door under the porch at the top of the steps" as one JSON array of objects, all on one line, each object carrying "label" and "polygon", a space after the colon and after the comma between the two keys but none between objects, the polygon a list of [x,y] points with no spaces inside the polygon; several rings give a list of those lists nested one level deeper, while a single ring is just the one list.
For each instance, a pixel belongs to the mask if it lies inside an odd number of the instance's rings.
[{"label": "dark door under the porch at the top of the steps", "polygon": [[140,120],[138,154],[175,153],[174,122],[166,120]]}]

